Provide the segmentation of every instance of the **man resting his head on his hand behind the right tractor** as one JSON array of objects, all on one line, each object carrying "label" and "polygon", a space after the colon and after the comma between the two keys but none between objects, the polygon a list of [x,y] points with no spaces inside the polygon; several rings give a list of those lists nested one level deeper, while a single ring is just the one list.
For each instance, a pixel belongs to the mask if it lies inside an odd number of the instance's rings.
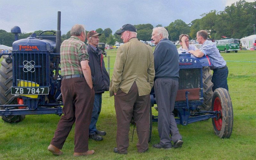
[{"label": "man resting his head on his hand behind the right tractor", "polygon": [[188,51],[193,50],[196,51],[198,48],[194,44],[189,44],[189,36],[185,34],[181,34],[180,38],[180,48],[178,48],[178,52],[180,53],[188,53]]}]

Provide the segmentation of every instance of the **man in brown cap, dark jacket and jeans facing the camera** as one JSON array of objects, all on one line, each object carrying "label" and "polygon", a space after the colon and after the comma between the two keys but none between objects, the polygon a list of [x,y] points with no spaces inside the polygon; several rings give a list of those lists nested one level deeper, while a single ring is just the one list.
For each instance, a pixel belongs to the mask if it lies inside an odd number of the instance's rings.
[{"label": "man in brown cap, dark jacket and jeans facing the camera", "polygon": [[89,126],[89,138],[96,141],[103,140],[102,136],[106,135],[105,131],[97,130],[96,123],[100,115],[102,93],[109,89],[109,76],[103,60],[103,51],[98,48],[100,35],[94,30],[87,33],[87,53],[90,57],[89,66],[91,68],[92,85],[95,92],[92,119]]}]

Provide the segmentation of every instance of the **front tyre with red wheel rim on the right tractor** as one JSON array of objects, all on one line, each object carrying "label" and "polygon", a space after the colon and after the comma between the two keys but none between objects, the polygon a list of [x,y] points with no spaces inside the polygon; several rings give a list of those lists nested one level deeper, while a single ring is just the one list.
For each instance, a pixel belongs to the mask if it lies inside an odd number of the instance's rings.
[{"label": "front tyre with red wheel rim on the right tractor", "polygon": [[229,138],[233,130],[233,106],[228,91],[217,88],[212,97],[212,110],[220,111],[218,118],[212,118],[213,130],[220,138]]}]

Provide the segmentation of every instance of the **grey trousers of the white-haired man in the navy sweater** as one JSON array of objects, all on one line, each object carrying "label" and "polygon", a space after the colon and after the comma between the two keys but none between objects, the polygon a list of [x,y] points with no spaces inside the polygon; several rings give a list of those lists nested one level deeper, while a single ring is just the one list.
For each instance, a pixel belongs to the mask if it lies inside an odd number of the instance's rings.
[{"label": "grey trousers of the white-haired man in the navy sweater", "polygon": [[182,138],[172,113],[178,88],[179,81],[173,79],[157,78],[154,84],[158,107],[158,134],[160,145],[164,147],[172,147],[171,141],[176,142]]}]

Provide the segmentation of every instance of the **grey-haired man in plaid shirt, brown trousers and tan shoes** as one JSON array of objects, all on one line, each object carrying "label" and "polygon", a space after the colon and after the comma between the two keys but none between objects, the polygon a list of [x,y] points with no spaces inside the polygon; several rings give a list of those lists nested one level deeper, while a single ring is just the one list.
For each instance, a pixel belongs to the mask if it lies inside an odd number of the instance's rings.
[{"label": "grey-haired man in plaid shirt, brown trousers and tan shoes", "polygon": [[76,24],[70,30],[71,37],[60,46],[61,94],[64,106],[57,129],[48,150],[53,155],[62,155],[62,149],[72,125],[75,125],[75,148],[73,156],[87,156],[89,124],[92,117],[94,90],[92,88],[89,55],[86,51],[85,29]]}]

